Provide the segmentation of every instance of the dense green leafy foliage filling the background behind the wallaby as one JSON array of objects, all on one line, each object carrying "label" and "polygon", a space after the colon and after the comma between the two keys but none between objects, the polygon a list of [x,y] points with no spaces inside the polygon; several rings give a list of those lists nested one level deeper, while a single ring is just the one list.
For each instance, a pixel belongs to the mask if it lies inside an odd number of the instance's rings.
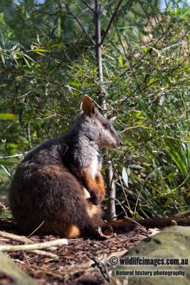
[{"label": "dense green leafy foliage filling the background behind the wallaby", "polygon": [[[89,1],[93,6],[93,1]],[[101,1],[102,6],[107,2]],[[1,1],[0,177],[24,152],[68,130],[83,94],[122,135],[112,161],[119,213],[162,216],[189,207],[189,6],[120,6],[102,43],[97,80],[93,11],[82,1]],[[116,4],[102,11],[102,35]],[[81,26],[78,24],[80,21]],[[86,36],[88,33],[88,37]],[[6,184],[5,184],[6,182]]]}]

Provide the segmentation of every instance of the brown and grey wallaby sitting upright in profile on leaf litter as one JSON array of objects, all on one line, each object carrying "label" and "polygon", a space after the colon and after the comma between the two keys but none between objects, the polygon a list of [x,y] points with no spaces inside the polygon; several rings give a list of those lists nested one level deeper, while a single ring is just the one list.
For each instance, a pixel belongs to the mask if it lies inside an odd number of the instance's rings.
[{"label": "brown and grey wallaby sitting upright in profile on leaf litter", "polygon": [[28,152],[16,169],[9,201],[23,232],[40,226],[35,234],[94,234],[105,197],[100,147],[121,145],[110,121],[83,96],[70,131]]}]

